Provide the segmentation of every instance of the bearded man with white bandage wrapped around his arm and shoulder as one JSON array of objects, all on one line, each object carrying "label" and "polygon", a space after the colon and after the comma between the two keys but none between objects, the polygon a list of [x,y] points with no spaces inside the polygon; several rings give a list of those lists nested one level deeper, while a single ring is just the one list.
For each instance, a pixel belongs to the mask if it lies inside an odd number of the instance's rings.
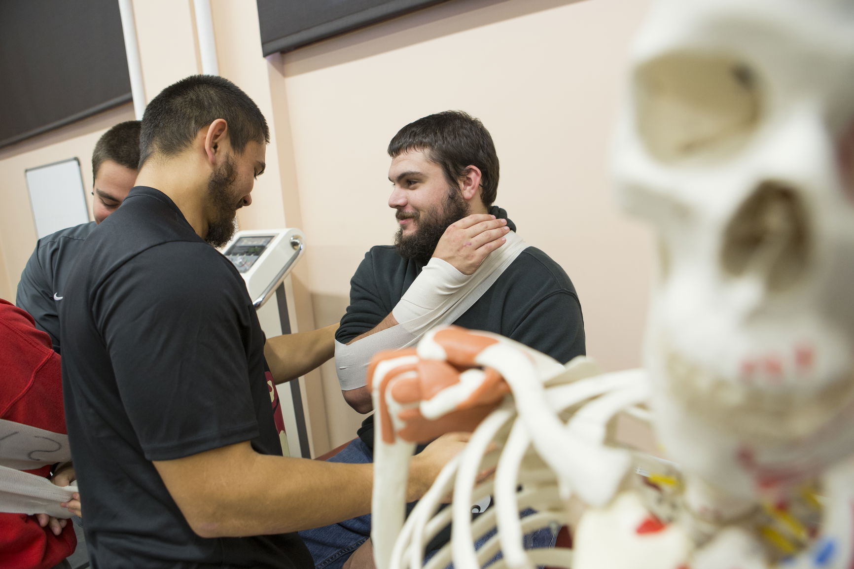
[{"label": "bearded man with white bandage wrapped around his arm and shoulder", "polygon": [[[583,355],[582,309],[570,278],[493,205],[499,161],[481,121],[459,111],[430,114],[401,128],[388,151],[395,245],[367,252],[336,332],[336,369],[350,406],[373,409],[364,372],[371,355],[412,345],[439,324],[501,334],[561,363]],[[330,460],[371,462],[373,438],[371,415]],[[370,532],[365,515],[300,535],[318,569],[339,569]],[[526,539],[542,546],[551,536]]]}]

